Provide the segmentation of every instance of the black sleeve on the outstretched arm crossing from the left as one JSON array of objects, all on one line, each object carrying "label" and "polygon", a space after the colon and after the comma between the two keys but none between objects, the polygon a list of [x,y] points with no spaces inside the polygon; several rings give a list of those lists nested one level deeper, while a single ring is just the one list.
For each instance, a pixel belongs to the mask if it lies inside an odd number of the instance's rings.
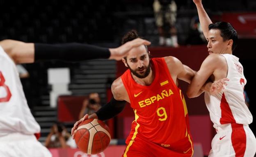
[{"label": "black sleeve on the outstretched arm crossing from the left", "polygon": [[67,43],[67,44],[34,44],[35,61],[38,60],[63,60],[83,61],[98,58],[109,58],[110,51],[89,44]]}]

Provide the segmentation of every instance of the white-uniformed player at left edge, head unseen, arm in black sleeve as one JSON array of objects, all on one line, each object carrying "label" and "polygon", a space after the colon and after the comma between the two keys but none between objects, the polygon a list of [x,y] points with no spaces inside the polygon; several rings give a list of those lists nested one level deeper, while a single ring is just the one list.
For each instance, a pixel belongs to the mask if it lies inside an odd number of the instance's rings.
[{"label": "white-uniformed player at left edge, head unseen, arm in black sleeve", "polygon": [[[0,41],[0,157],[51,157],[39,138],[40,126],[27,105],[15,64],[38,60],[121,60],[133,47],[150,44],[136,39],[115,49],[87,44],[37,44]],[[34,136],[36,135],[36,136]],[[37,137],[37,138],[36,138]]]}]

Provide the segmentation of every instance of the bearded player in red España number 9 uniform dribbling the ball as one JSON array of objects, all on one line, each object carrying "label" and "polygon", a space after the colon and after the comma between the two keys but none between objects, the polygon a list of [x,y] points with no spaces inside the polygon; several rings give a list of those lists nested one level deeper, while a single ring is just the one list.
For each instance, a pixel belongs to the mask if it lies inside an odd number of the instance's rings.
[{"label": "bearded player in red Espa\u00f1a number 9 uniform dribbling the ball", "polygon": [[[123,43],[135,38],[137,33],[130,31]],[[150,59],[144,45],[132,49],[122,61],[129,69],[113,82],[114,98],[96,113],[80,119],[72,128],[72,134],[84,119],[113,117],[113,110],[121,106],[121,102],[117,102],[124,100],[133,108],[135,121],[126,139],[123,157],[191,157],[193,143],[187,107],[177,85],[178,79],[190,83],[194,71],[175,57]],[[210,83],[205,86],[209,87]]]}]

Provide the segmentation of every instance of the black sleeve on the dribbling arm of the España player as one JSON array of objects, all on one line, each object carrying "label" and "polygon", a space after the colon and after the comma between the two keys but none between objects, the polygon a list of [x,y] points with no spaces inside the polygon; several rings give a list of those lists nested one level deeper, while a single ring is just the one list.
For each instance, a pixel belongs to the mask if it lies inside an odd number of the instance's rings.
[{"label": "black sleeve on the dribbling arm of the Espa\u00f1a player", "polygon": [[123,111],[123,108],[126,105],[126,101],[119,101],[115,100],[114,97],[102,106],[97,112],[96,115],[98,116],[98,119],[100,120],[107,120],[110,118],[113,118],[114,116],[118,115]]}]

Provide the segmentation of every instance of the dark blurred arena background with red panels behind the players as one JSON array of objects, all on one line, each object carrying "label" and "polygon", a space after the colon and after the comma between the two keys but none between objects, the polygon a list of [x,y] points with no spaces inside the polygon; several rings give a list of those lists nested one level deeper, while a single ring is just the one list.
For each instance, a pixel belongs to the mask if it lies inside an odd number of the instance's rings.
[{"label": "dark blurred arena background with red panels behind the players", "polygon": [[[164,12],[170,11],[173,21],[170,24],[167,18],[163,18],[160,26],[156,22],[159,12],[154,0],[0,0],[0,40],[79,42],[117,47],[126,32],[136,29],[140,36],[152,42],[149,47],[152,57],[172,55],[197,71],[208,52],[196,7],[192,0],[167,0],[166,3],[172,3]],[[256,117],[256,0],[203,0],[203,5],[213,22],[230,22],[238,31],[238,47],[233,54],[244,66],[249,110]],[[31,111],[41,126],[39,140],[43,144],[56,123],[61,122],[65,127],[61,130],[70,132],[81,114],[96,110],[110,100],[113,80],[126,70],[123,63],[112,60],[76,63],[53,60],[23,64],[22,67],[21,81]],[[67,75],[67,90],[64,92],[55,90],[58,77],[50,73],[51,70],[55,73],[56,68],[68,68],[64,69],[64,75]],[[182,83],[183,93],[186,86]],[[98,93],[100,101],[90,98],[90,93]],[[215,130],[203,95],[186,100],[194,142],[206,156]],[[113,145],[124,144],[133,119],[128,104],[123,113],[106,122]],[[250,127],[256,134],[255,121]]]}]

